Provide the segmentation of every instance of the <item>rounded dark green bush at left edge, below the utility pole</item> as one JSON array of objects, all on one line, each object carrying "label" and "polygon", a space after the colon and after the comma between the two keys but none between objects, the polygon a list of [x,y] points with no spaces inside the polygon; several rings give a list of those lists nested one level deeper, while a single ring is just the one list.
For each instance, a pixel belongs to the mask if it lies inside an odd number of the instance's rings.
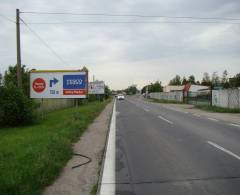
[{"label": "rounded dark green bush at left edge, below the utility pole", "polygon": [[33,122],[33,102],[13,84],[0,87],[0,125],[18,126]]}]

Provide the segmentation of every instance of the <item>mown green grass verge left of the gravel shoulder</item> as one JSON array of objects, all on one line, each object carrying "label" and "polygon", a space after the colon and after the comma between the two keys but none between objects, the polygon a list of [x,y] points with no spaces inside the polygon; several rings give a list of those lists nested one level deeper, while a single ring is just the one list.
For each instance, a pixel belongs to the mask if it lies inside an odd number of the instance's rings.
[{"label": "mown green grass verge left of the gravel shoulder", "polygon": [[72,143],[106,106],[52,112],[38,124],[0,129],[0,194],[41,194],[72,156]]}]

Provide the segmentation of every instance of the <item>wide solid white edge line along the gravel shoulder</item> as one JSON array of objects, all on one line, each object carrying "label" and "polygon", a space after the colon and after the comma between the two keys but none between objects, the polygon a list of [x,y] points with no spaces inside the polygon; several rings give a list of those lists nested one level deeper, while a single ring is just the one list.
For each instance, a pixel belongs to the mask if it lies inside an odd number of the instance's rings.
[{"label": "wide solid white edge line along the gravel shoulder", "polygon": [[107,151],[104,159],[102,181],[99,195],[115,195],[115,159],[116,159],[116,101],[113,106],[112,119],[109,130]]}]

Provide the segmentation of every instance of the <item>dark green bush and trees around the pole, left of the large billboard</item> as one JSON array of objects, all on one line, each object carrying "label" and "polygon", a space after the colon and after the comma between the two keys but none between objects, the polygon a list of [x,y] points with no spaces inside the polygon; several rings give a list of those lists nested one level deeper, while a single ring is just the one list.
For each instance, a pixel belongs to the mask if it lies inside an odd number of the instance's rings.
[{"label": "dark green bush and trees around the pole, left of the large billboard", "polygon": [[17,87],[17,68],[9,66],[0,83],[0,126],[20,126],[32,124],[35,104],[29,98],[29,70],[22,66],[23,85]]}]

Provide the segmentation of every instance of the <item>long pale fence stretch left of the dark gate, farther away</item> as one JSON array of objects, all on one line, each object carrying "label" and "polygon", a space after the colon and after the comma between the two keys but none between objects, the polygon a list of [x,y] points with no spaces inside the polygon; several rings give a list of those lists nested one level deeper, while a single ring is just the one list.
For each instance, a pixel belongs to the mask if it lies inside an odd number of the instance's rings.
[{"label": "long pale fence stretch left of the dark gate, farther away", "polygon": [[183,92],[174,91],[174,92],[154,92],[150,93],[150,98],[152,99],[163,99],[163,100],[173,100],[178,102],[183,102]]}]

